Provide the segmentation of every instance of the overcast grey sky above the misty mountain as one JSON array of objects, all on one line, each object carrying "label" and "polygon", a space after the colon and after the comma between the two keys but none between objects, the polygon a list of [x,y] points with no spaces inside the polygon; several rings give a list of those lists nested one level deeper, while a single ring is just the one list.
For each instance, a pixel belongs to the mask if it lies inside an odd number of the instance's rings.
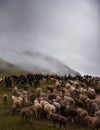
[{"label": "overcast grey sky above the misty mountain", "polygon": [[0,0],[0,57],[39,51],[100,76],[99,9],[99,0]]}]

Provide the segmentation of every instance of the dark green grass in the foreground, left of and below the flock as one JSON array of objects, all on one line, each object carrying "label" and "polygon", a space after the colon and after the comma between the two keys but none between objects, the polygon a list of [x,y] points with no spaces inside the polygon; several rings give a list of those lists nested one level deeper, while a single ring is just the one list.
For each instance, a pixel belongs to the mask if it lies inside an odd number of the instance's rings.
[{"label": "dark green grass in the foreground, left of and below the flock", "polygon": [[[8,104],[3,105],[1,96],[5,92],[9,95],[9,98]],[[15,115],[12,115],[11,95],[11,90],[5,87],[0,89],[0,130],[59,130],[58,127],[53,127],[51,121],[33,120],[30,123],[22,121],[20,112],[17,112]],[[60,130],[63,130],[63,128]],[[68,123],[67,130],[88,130],[88,128]]]}]

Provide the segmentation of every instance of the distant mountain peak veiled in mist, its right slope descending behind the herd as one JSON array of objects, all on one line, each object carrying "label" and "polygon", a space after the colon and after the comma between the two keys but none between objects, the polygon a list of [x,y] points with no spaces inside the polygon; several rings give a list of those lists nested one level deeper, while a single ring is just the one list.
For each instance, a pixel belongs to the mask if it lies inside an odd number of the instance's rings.
[{"label": "distant mountain peak veiled in mist, its right slope descending behind the herd", "polygon": [[[40,52],[30,52],[26,51],[23,53],[25,56],[33,60],[32,64],[24,64],[23,67],[27,70],[37,73],[49,73],[49,74],[59,74],[59,75],[80,75],[79,72],[71,69],[58,59],[53,56],[40,53]],[[28,68],[30,66],[30,68]]]}]

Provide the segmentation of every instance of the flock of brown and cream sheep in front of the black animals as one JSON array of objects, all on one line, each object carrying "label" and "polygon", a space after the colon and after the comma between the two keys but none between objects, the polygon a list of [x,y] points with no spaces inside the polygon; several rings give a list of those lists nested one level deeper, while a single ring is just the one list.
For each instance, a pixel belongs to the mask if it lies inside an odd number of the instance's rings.
[{"label": "flock of brown and cream sheep in front of the black animals", "polygon": [[[34,82],[34,81],[33,81]],[[49,78],[42,77],[41,84],[28,91],[13,86],[11,110],[13,115],[20,111],[22,120],[51,120],[56,126],[67,128],[67,122],[80,123],[95,128],[100,127],[100,78],[78,76]],[[41,87],[40,87],[41,86]],[[8,95],[2,95],[7,104]]]}]

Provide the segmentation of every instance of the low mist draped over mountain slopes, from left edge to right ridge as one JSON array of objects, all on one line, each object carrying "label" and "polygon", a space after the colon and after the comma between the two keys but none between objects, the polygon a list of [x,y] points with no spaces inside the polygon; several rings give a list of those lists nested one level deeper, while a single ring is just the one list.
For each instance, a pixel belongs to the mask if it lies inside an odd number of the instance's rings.
[{"label": "low mist draped over mountain slopes, from left edge to right ridge", "polygon": [[10,63],[0,59],[0,69],[3,70],[24,70],[31,73],[58,74],[58,75],[80,75],[53,56],[41,53],[24,51],[20,55],[20,62]]}]

